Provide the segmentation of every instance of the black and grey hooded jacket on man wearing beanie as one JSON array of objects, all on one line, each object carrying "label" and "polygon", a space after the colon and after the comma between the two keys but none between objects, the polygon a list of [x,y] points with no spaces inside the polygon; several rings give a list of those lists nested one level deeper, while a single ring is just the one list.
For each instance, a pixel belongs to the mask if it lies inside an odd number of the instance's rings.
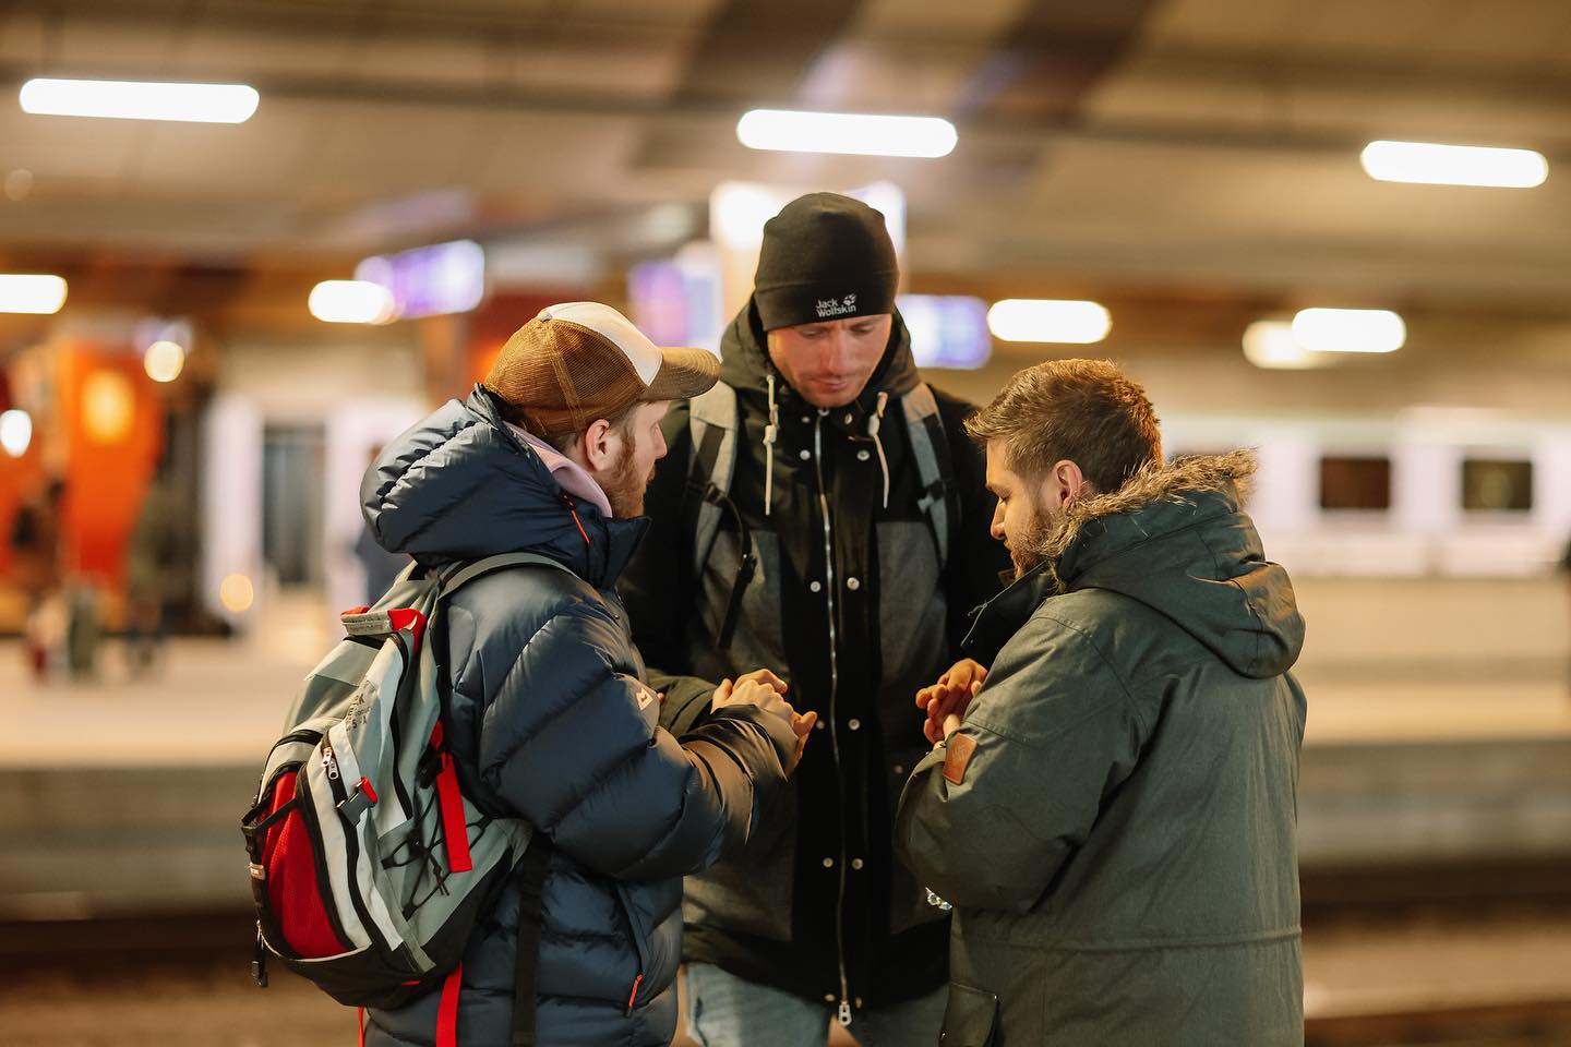
[{"label": "black and grey hooded jacket on man wearing beanie", "polygon": [[[902,414],[919,377],[899,314],[866,389],[833,411],[775,372],[751,305],[726,331],[721,358],[740,414],[727,512],[696,570],[694,451],[687,405],[672,407],[669,457],[649,491],[654,526],[624,586],[633,633],[652,673],[698,678],[658,684],[671,730],[702,720],[715,680],[760,666],[787,678],[787,699],[815,710],[822,730],[793,779],[790,816],[688,879],[683,956],[815,1001],[895,1003],[943,986],[947,965],[947,918],[891,851],[899,788],[927,752],[913,695],[955,661],[968,612],[998,592],[1007,565],[988,537],[982,455],[961,425],[972,408],[935,391],[954,521],[941,570]],[[770,377],[779,408],[773,477],[764,443]],[[721,648],[743,548],[738,520],[759,562]]]}]

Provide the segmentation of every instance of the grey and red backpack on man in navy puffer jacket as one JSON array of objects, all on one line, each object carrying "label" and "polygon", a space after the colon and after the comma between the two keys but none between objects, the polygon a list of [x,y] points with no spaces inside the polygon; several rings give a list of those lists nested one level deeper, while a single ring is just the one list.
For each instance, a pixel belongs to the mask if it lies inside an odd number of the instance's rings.
[{"label": "grey and red backpack on man in navy puffer jacket", "polygon": [[397,1008],[441,987],[435,1042],[457,1042],[462,958],[506,881],[523,895],[514,1044],[534,1044],[540,890],[550,841],[479,810],[443,736],[443,667],[426,642],[463,584],[531,553],[407,568],[311,670],[240,823],[256,904],[251,975],[276,959],[347,1006]]}]

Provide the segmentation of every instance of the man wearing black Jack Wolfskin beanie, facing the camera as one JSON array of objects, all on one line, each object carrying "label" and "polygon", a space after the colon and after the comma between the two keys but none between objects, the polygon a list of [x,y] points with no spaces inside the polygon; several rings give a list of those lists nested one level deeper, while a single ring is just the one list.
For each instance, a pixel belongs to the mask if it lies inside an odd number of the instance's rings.
[{"label": "man wearing black Jack Wolfskin beanie, facing the camera", "polygon": [[966,440],[974,410],[921,380],[883,215],[834,193],[764,228],[721,380],[666,418],[666,465],[624,598],[661,724],[767,666],[822,735],[789,810],[687,881],[688,1027],[710,1047],[938,1039],[949,920],[892,855],[928,749],[913,705],[958,661],[1007,559]]}]

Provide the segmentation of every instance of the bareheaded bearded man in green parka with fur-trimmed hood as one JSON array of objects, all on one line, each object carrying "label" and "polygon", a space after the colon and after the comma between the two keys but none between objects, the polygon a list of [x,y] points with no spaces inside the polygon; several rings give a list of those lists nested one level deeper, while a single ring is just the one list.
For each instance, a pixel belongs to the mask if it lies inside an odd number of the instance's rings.
[{"label": "bareheaded bearded man in green parka with fur-trimmed hood", "polygon": [[1015,582],[917,695],[938,744],[895,824],[955,907],[944,1047],[1301,1044],[1304,620],[1241,509],[1254,457],[1164,466],[1089,359],[968,429]]}]

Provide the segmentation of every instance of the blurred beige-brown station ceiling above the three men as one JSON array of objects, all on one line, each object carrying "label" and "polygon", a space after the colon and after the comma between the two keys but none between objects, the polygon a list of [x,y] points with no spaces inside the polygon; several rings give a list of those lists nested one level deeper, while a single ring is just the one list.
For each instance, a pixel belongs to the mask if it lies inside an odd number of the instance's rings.
[{"label": "blurred beige-brown station ceiling above the three men", "polygon": [[[262,100],[239,126],[30,116],[35,75]],[[1565,0],[14,0],[0,83],[13,267],[459,235],[616,262],[702,235],[727,179],[889,179],[935,286],[1571,316]],[[938,115],[960,144],[754,152],[735,121],[764,105]],[[1551,176],[1376,182],[1375,138],[1532,148]]]}]

